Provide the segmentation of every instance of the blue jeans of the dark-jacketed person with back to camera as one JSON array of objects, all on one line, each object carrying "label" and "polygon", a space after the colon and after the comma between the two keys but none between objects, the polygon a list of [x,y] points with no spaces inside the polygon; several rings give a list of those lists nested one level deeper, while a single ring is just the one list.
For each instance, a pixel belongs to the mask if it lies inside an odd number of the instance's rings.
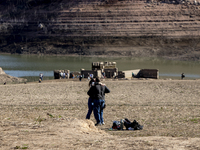
[{"label": "blue jeans of the dark-jacketed person with back to camera", "polygon": [[97,121],[97,123],[103,123],[103,107],[105,105],[105,101],[100,100],[94,100],[94,117]]}]

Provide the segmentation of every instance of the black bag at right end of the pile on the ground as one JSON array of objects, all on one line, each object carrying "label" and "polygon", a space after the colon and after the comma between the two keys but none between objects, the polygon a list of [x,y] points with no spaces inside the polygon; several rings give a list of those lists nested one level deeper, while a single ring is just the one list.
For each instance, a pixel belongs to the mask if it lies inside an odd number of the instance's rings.
[{"label": "black bag at right end of the pile on the ground", "polygon": [[127,118],[124,119],[124,126],[126,127],[126,130],[130,130],[130,129],[142,130],[143,129],[143,126],[141,126],[136,120],[131,122]]}]

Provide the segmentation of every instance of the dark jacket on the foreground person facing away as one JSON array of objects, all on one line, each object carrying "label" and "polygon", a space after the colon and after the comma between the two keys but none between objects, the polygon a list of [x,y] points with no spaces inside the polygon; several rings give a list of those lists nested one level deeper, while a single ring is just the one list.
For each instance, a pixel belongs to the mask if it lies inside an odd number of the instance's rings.
[{"label": "dark jacket on the foreground person facing away", "polygon": [[105,86],[96,83],[94,86],[91,86],[87,94],[90,96],[92,99],[96,100],[105,100],[105,93],[110,93],[110,90]]}]

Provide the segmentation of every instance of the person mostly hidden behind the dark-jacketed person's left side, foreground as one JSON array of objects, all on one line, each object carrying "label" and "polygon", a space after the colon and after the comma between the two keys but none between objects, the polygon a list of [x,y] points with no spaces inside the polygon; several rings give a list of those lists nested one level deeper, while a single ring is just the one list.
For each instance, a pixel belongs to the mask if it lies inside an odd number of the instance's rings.
[{"label": "person mostly hidden behind the dark-jacketed person's left side, foreground", "polygon": [[[94,86],[95,80],[92,78],[89,82],[89,87],[91,88],[92,85]],[[94,102],[93,102],[93,95],[90,95],[88,98],[88,113],[86,115],[86,119],[90,119],[90,115],[92,114],[93,111],[93,106],[94,106]]]}]

